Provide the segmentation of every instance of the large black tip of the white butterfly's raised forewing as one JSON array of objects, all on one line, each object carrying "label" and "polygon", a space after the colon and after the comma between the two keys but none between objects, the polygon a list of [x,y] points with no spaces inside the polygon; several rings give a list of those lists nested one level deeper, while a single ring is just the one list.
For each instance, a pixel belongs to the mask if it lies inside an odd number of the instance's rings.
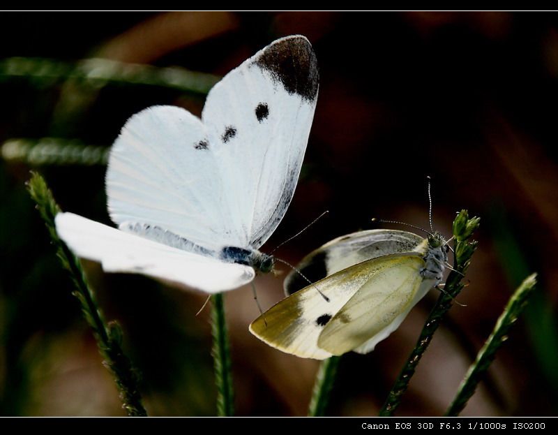
[{"label": "large black tip of the white butterfly's raised forewing", "polygon": [[271,73],[289,94],[313,101],[318,92],[319,73],[312,45],[303,36],[272,43],[255,59],[255,64]]}]

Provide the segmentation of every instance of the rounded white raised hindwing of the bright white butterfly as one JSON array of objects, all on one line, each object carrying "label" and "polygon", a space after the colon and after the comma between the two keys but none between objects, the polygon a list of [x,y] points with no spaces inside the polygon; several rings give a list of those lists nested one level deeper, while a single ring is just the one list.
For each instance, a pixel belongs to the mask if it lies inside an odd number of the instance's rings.
[{"label": "rounded white raised hindwing of the bright white butterfly", "polygon": [[[112,221],[149,223],[218,249],[241,237],[227,216],[223,179],[202,121],[174,106],[133,115],[110,153]],[[219,237],[216,237],[219,235]]]}]

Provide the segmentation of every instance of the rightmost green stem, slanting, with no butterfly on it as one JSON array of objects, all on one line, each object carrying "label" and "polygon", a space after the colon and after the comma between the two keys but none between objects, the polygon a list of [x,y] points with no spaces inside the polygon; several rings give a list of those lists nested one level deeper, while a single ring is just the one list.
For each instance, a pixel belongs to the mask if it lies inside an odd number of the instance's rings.
[{"label": "rightmost green stem, slanting, with no butterfly on it", "polygon": [[536,274],[531,274],[515,290],[508,300],[506,308],[498,318],[492,334],[486,340],[481,351],[476,355],[476,360],[465,375],[455,398],[446,411],[446,416],[455,417],[465,408],[467,401],[474,395],[476,385],[481,381],[483,375],[496,357],[496,352],[508,339],[508,333],[513,323],[518,320],[521,312],[527,305],[527,300],[536,284]]}]

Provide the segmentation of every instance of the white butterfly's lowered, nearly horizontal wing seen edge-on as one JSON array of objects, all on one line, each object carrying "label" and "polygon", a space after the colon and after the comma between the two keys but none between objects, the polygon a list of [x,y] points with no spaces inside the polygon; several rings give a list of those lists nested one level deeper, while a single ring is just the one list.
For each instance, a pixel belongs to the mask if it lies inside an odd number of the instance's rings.
[{"label": "white butterfly's lowered, nearly horizontal wing seen edge-on", "polygon": [[117,230],[72,213],[56,215],[56,231],[77,256],[98,261],[106,272],[141,273],[208,293],[252,281],[252,267],[223,263]]}]

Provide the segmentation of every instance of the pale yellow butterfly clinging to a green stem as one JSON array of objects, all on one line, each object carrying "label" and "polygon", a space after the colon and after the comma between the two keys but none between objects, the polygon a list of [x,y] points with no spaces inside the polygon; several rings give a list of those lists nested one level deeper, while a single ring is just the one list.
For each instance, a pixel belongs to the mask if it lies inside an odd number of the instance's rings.
[{"label": "pale yellow butterfly clinging to a green stem", "polygon": [[439,284],[447,249],[435,232],[426,239],[396,230],[338,237],[299,265],[305,277],[318,281],[308,286],[291,272],[285,279],[287,297],[254,320],[250,332],[300,357],[368,353]]}]

